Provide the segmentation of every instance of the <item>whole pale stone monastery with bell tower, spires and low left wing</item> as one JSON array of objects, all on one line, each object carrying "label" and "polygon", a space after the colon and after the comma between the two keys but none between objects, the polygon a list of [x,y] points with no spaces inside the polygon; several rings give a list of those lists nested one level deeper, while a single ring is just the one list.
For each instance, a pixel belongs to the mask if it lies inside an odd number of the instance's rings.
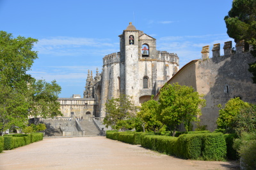
[{"label": "whole pale stone monastery with bell tower, spires and low left wing", "polygon": [[84,96],[60,98],[64,117],[105,117],[105,103],[120,94],[131,96],[136,105],[148,101],[179,71],[175,53],[157,51],[156,39],[137,30],[130,22],[119,36],[120,52],[103,58],[102,73],[88,71]]}]

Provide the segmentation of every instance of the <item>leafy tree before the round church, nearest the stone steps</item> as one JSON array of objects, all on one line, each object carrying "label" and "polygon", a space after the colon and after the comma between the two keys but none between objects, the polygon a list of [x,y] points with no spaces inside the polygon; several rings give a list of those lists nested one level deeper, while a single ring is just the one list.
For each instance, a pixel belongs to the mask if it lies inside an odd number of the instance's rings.
[{"label": "leafy tree before the round church, nearest the stone steps", "polygon": [[[107,101],[106,117],[104,118],[104,125],[111,126],[113,129],[120,129],[120,127],[128,127],[131,129],[131,120],[135,117],[137,107],[132,101],[132,97],[120,95],[119,98],[112,98]],[[129,121],[128,121],[129,120]]]}]

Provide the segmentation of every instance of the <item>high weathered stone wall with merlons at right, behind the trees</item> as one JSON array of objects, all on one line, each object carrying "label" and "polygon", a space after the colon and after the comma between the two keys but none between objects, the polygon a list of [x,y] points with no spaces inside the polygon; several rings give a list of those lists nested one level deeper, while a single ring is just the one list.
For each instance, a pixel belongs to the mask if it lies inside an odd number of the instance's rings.
[{"label": "high weathered stone wall with merlons at right, behind the trees", "polygon": [[[205,49],[207,48],[207,49]],[[250,52],[244,52],[243,41],[236,45],[236,53],[232,52],[232,41],[224,45],[224,55],[220,56],[220,44],[212,48],[209,59],[209,46],[204,46],[202,59],[192,60],[182,67],[168,83],[179,82],[180,85],[192,86],[199,94],[204,94],[206,106],[202,108],[200,125],[207,129],[216,129],[218,104],[225,105],[234,97],[243,101],[256,103],[256,85],[252,82],[252,73],[248,71],[248,63],[255,58]],[[156,99],[158,99],[157,94]]]}]

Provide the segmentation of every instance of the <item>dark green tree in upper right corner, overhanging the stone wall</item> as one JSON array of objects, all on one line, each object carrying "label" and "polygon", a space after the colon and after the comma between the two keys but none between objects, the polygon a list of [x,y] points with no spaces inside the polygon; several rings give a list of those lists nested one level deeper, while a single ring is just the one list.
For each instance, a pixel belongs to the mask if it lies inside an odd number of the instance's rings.
[{"label": "dark green tree in upper right corner, overhanging the stone wall", "polygon": [[[235,41],[245,40],[253,46],[252,55],[256,57],[256,1],[234,0],[232,8],[224,18],[227,25],[227,34]],[[256,83],[256,62],[249,64],[249,71],[253,74],[253,83]]]}]

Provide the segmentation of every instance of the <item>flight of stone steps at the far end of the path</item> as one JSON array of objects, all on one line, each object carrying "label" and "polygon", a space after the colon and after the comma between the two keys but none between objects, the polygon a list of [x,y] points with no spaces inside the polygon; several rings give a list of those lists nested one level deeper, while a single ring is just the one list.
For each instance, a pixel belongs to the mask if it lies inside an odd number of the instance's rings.
[{"label": "flight of stone steps at the far end of the path", "polygon": [[85,136],[100,136],[100,131],[96,125],[89,120],[81,120],[79,124],[84,129]]}]

